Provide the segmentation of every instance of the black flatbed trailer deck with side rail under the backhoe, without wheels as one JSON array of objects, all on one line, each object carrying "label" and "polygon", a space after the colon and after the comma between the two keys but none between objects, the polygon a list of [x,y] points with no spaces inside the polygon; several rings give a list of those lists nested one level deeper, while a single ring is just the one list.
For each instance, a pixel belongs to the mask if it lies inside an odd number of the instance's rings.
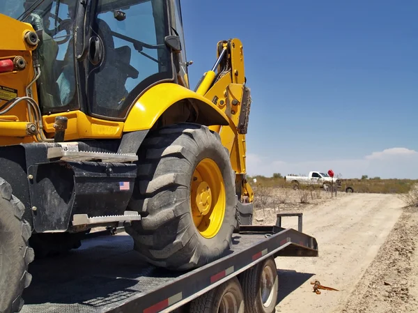
[{"label": "black flatbed trailer deck with side rail under the backhoe, without wheels", "polygon": [[185,273],[150,266],[132,247],[132,238],[121,232],[34,261],[21,312],[170,312],[272,255],[318,256],[315,238],[278,226],[240,227],[226,256]]}]

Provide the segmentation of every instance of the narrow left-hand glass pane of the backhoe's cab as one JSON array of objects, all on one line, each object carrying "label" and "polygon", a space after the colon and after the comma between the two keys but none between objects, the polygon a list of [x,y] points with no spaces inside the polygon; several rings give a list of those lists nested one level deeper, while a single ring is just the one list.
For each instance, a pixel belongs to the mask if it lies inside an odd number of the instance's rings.
[{"label": "narrow left-hand glass pane of the backhoe's cab", "polygon": [[[77,1],[42,1],[24,22],[40,33],[38,98],[44,114],[79,108],[74,63],[74,21]],[[24,10],[32,8],[26,5]]]}]

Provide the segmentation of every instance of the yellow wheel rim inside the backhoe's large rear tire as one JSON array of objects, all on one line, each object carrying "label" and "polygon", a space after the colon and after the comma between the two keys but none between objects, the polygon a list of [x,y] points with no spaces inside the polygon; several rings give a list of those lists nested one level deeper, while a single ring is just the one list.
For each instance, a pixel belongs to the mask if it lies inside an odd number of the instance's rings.
[{"label": "yellow wheel rim inside the backhoe's large rear tire", "polygon": [[194,170],[190,203],[194,226],[204,238],[214,237],[224,222],[226,192],[221,171],[211,159],[203,159]]}]

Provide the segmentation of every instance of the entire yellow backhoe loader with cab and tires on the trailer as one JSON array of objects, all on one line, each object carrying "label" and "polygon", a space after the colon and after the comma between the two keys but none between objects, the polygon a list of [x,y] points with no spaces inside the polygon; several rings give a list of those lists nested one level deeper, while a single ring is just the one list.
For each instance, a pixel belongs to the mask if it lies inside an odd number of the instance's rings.
[{"label": "entire yellow backhoe loader with cab and tires on the trailer", "polygon": [[0,38],[0,312],[92,228],[189,270],[251,224],[240,40],[191,90],[179,0],[2,0]]}]

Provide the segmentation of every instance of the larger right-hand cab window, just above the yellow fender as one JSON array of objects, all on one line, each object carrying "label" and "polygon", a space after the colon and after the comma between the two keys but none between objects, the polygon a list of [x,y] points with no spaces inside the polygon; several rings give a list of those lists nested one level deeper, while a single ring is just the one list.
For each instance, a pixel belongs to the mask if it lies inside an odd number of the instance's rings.
[{"label": "larger right-hand cab window, just above the yellow fender", "polygon": [[164,0],[98,1],[93,36],[102,59],[88,68],[91,114],[123,119],[139,93],[172,79],[167,21]]}]

